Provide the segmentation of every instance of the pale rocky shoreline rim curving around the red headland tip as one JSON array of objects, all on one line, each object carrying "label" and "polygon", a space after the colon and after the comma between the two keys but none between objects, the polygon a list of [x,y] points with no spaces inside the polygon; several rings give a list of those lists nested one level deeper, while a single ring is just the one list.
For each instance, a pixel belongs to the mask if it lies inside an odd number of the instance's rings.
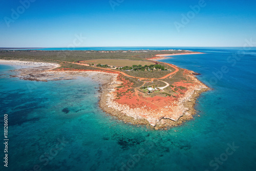
[{"label": "pale rocky shoreline rim curving around the red headland tip", "polygon": [[[117,117],[119,120],[123,120],[125,123],[135,124],[135,125],[147,125],[152,129],[168,129],[170,127],[175,127],[181,125],[184,121],[193,119],[193,115],[196,115],[196,110],[194,106],[196,104],[197,98],[201,93],[210,90],[205,84],[200,82],[194,75],[198,75],[194,72],[190,72],[190,77],[193,78],[197,83],[196,86],[190,86],[182,98],[174,103],[175,106],[166,106],[165,110],[144,110],[143,106],[141,108],[130,108],[129,105],[117,103],[114,99],[115,91],[121,82],[117,80],[117,77],[113,77],[111,82],[102,85],[100,90],[100,100],[99,106],[106,113]],[[172,110],[172,112],[169,112]],[[158,117],[159,113],[165,112],[168,115],[165,117]],[[148,113],[153,114],[155,117],[147,117]],[[141,115],[143,114],[143,115]],[[144,116],[144,117],[143,117]]]}]

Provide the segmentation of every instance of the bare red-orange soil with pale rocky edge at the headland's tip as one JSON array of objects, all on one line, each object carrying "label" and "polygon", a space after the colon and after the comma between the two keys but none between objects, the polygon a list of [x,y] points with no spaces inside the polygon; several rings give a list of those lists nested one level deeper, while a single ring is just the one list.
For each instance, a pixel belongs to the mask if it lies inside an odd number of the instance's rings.
[{"label": "bare red-orange soil with pale rocky edge at the headland's tip", "polygon": [[[208,90],[207,86],[197,80],[193,71],[184,70],[183,74],[188,81],[175,82],[173,85],[185,89],[179,90],[175,96],[167,97],[148,97],[139,92],[138,88],[134,91],[133,83],[119,74],[106,90],[108,94],[101,100],[101,108],[106,112],[114,109],[119,115],[133,117],[135,121],[130,122],[140,123],[138,120],[145,119],[156,129],[179,125],[193,118],[196,97]],[[118,88],[120,85],[122,87]]]}]

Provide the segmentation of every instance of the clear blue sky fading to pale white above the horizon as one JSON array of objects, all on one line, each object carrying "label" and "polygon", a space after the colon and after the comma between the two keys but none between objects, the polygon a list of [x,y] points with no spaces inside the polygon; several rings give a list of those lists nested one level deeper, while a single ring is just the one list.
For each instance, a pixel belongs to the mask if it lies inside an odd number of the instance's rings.
[{"label": "clear blue sky fading to pale white above the horizon", "polygon": [[27,8],[1,1],[0,47],[68,47],[80,34],[86,39],[75,40],[79,47],[229,47],[256,41],[255,0],[205,0],[183,23],[182,14],[201,0],[113,0],[120,2],[114,10],[109,0],[33,1]]}]

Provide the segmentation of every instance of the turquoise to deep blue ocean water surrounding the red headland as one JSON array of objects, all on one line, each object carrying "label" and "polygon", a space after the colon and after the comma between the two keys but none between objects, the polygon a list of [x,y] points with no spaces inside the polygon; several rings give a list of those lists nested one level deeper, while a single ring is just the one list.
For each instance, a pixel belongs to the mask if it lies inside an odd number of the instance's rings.
[{"label": "turquoise to deep blue ocean water surrounding the red headland", "polygon": [[212,88],[198,98],[200,116],[168,131],[125,124],[99,109],[100,85],[90,78],[19,80],[9,77],[11,66],[1,65],[0,122],[4,130],[8,114],[8,170],[256,169],[256,48],[91,48],[119,49],[205,52],[161,60],[200,73]]}]

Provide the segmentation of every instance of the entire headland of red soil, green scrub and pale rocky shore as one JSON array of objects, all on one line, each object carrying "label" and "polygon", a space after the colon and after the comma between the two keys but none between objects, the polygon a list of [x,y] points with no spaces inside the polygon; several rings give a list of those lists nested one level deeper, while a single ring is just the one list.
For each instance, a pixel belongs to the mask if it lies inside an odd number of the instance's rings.
[{"label": "entire headland of red soil, green scrub and pale rocky shore", "polygon": [[[3,60],[0,63],[34,65],[34,68],[25,67],[17,70],[17,75],[12,75],[32,81],[89,76],[101,84],[99,106],[103,111],[127,124],[145,124],[156,130],[168,129],[193,119],[197,97],[209,90],[196,78],[197,73],[156,61],[163,56],[199,52],[172,50],[61,53],[66,56],[55,56],[59,52],[2,51],[0,59]],[[29,57],[24,57],[25,55]]]}]

